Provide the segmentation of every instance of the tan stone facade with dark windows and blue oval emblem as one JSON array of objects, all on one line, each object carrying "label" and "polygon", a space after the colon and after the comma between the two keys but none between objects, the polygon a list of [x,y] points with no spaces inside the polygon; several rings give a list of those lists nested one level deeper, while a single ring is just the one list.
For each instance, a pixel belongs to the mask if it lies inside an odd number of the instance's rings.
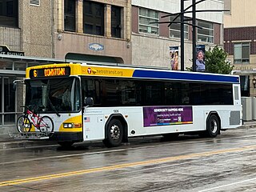
[{"label": "tan stone facade with dark windows and blue oval emblem", "polygon": [[54,58],[130,64],[130,0],[54,2]]}]

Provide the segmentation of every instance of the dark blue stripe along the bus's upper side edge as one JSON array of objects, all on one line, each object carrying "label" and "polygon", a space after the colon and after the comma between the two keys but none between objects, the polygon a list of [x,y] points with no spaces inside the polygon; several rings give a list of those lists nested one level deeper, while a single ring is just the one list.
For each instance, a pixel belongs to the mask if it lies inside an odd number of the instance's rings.
[{"label": "dark blue stripe along the bus's upper side edge", "polygon": [[205,82],[230,82],[239,83],[235,76],[221,74],[179,73],[167,71],[134,70],[134,78],[159,78],[171,80],[205,81]]}]

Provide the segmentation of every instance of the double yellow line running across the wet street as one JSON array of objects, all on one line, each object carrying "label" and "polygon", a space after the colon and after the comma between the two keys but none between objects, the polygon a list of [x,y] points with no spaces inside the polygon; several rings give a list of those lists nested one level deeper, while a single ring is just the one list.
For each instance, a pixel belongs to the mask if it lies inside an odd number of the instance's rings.
[{"label": "double yellow line running across the wet street", "polygon": [[256,149],[256,146],[244,146],[240,148],[227,149],[227,150],[207,151],[207,152],[202,152],[198,154],[183,154],[175,157],[156,158],[156,159],[143,161],[143,162],[130,162],[130,163],[123,163],[115,166],[103,166],[103,167],[92,168],[88,170],[70,171],[62,174],[48,174],[48,175],[38,176],[33,178],[15,179],[10,181],[0,182],[0,186],[14,186],[22,183],[27,183],[27,182],[49,180],[52,178],[64,178],[64,177],[70,177],[70,176],[75,176],[79,174],[91,174],[91,173],[96,173],[100,171],[118,170],[118,169],[132,167],[132,166],[147,166],[150,164],[174,162],[174,161],[186,160],[190,158],[201,158],[201,157],[207,157],[207,156],[216,155],[216,154],[235,153],[235,152],[241,152],[245,150],[255,150],[255,149]]}]

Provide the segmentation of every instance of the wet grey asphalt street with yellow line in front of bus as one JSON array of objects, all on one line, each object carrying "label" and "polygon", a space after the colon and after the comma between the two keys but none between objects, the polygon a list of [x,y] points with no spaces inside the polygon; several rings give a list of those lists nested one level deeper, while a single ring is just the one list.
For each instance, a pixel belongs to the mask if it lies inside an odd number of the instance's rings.
[{"label": "wet grey asphalt street with yellow line in front of bus", "polygon": [[0,150],[0,191],[255,191],[256,128]]}]

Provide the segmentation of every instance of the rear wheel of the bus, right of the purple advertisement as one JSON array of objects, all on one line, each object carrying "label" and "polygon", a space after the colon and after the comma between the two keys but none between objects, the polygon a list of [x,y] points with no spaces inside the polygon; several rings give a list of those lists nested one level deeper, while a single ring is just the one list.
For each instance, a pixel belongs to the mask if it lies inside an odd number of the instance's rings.
[{"label": "rear wheel of the bus, right of the purple advertisement", "polygon": [[221,123],[215,114],[211,114],[206,121],[206,137],[216,138],[221,129]]}]

